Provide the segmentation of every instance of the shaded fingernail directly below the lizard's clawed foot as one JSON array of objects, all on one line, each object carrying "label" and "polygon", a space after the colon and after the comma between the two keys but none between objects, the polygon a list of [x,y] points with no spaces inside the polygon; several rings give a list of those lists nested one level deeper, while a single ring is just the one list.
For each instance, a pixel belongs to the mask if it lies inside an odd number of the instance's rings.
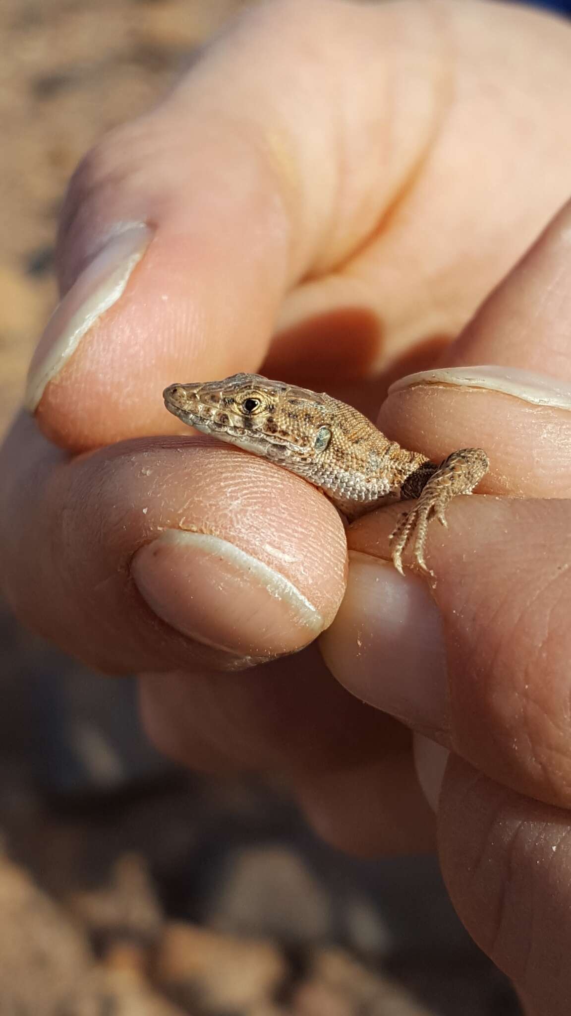
[{"label": "shaded fingernail directly below the lizard's clawed foot", "polygon": [[442,621],[422,579],[352,551],[343,601],[319,644],[337,680],[364,701],[418,731],[448,728]]}]

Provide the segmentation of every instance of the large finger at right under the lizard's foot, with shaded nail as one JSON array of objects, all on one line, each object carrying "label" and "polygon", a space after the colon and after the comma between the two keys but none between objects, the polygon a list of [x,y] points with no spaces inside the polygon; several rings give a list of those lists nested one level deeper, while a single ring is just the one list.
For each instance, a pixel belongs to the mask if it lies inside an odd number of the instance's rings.
[{"label": "large finger at right under the lizard's foot, with shaded nail", "polygon": [[465,499],[431,534],[434,589],[351,533],[345,596],[321,647],[355,695],[514,789],[571,805],[568,501]]}]

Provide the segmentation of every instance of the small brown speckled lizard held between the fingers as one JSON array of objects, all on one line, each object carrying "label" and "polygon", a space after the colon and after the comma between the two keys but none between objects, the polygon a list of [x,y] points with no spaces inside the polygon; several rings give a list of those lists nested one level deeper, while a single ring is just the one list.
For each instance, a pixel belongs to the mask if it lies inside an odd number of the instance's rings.
[{"label": "small brown speckled lizard held between the fingers", "polygon": [[400,574],[408,544],[418,566],[429,571],[425,544],[430,519],[446,525],[448,502],[471,494],[490,466],[481,448],[454,451],[437,465],[422,452],[389,441],[353,406],[259,374],[172,384],[163,396],[170,412],[189,427],[303,477],[348,520],[398,498],[418,498],[390,536]]}]

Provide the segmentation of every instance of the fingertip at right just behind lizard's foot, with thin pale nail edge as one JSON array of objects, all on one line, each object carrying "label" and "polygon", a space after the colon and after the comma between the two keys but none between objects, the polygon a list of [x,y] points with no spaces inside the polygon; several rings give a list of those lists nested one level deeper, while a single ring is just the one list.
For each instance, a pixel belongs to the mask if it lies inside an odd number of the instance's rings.
[{"label": "fingertip at right just behind lizard's foot, with thin pale nail edge", "polygon": [[434,462],[452,449],[484,449],[490,471],[479,493],[568,497],[571,387],[547,374],[503,368],[443,367],[401,378],[378,426]]}]

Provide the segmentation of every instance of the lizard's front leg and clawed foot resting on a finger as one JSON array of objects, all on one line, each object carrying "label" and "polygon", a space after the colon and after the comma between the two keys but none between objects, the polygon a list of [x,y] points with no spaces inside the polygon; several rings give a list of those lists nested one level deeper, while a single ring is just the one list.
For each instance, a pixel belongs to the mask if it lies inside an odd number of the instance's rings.
[{"label": "lizard's front leg and clawed foot resting on a finger", "polygon": [[445,458],[426,480],[417,504],[400,516],[390,535],[391,557],[394,567],[401,575],[402,554],[411,544],[417,567],[429,575],[434,573],[425,561],[425,546],[428,525],[437,518],[441,525],[447,525],[446,507],[458,494],[471,494],[490,468],[488,455],[481,448],[463,448]]}]

